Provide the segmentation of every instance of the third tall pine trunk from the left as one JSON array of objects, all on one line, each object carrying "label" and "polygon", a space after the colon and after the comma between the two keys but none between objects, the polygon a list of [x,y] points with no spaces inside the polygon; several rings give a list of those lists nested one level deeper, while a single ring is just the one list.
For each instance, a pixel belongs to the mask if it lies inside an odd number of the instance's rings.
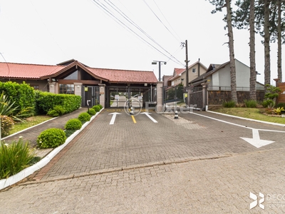
[{"label": "third tall pine trunk from the left", "polygon": [[264,0],[264,85],[270,85],[269,0]]}]

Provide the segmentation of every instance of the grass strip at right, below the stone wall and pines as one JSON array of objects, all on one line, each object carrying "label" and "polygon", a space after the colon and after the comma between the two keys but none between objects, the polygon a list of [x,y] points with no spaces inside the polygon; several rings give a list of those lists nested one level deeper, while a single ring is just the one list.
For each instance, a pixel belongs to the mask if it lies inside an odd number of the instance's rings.
[{"label": "grass strip at right, below the stone wall and pines", "polygon": [[219,113],[226,113],[233,116],[239,116],[243,118],[251,118],[259,121],[266,121],[271,123],[285,124],[285,118],[281,116],[267,116],[264,115],[264,108],[213,108],[210,111],[216,111]]}]

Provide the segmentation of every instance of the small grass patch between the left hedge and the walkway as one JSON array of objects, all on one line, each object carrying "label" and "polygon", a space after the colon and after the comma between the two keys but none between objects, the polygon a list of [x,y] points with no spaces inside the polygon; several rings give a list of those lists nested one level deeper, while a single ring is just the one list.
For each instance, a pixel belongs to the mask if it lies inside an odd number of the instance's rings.
[{"label": "small grass patch between the left hedge and the walkway", "polygon": [[29,128],[31,126],[36,126],[37,124],[42,123],[44,121],[48,121],[51,118],[52,117],[50,117],[50,116],[41,115],[41,116],[33,116],[33,117],[26,118],[26,122],[25,123],[23,123],[23,122],[16,122],[15,125],[13,126],[13,128],[10,131],[10,135],[12,133],[16,133],[18,131],[22,131],[22,130],[24,130],[26,128]]}]

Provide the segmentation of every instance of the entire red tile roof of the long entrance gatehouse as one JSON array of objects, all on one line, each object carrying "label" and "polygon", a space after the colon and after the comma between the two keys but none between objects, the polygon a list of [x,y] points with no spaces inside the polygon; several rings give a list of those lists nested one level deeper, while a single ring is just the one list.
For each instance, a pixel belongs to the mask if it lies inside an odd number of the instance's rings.
[{"label": "entire red tile roof of the long entrance gatehouse", "polygon": [[0,62],[0,78],[44,79],[51,76],[56,76],[59,73],[65,72],[69,67],[77,65],[88,71],[88,73],[93,73],[95,78],[102,78],[103,81],[109,81],[111,83],[157,83],[155,73],[152,71],[90,68],[83,63],[79,63],[78,61],[72,61],[70,64],[64,66],[61,65],[62,63],[56,66],[47,66]]}]

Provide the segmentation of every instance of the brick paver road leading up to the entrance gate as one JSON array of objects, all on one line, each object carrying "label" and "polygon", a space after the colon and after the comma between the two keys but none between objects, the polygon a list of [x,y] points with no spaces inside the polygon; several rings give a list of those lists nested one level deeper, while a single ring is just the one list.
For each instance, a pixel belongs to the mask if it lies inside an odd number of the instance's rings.
[{"label": "brick paver road leading up to the entrance gate", "polygon": [[[271,132],[284,127],[209,113],[201,114],[240,126],[190,113],[178,120],[152,113],[157,123],[139,115],[134,123],[123,112],[110,125],[108,113],[34,180],[1,192],[5,213],[285,212],[285,134]],[[275,142],[255,148],[241,138],[253,137],[245,126]],[[264,194],[264,210],[259,203],[249,210],[249,192]]]}]

